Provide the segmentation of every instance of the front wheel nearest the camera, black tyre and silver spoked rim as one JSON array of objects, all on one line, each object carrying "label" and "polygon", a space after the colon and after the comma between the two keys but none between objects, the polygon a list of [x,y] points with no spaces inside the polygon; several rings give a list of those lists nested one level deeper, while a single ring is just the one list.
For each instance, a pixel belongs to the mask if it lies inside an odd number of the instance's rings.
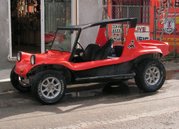
[{"label": "front wheel nearest the camera, black tyre and silver spoked rim", "polygon": [[65,95],[66,82],[64,76],[54,70],[37,73],[32,77],[32,93],[43,104],[53,104]]}]

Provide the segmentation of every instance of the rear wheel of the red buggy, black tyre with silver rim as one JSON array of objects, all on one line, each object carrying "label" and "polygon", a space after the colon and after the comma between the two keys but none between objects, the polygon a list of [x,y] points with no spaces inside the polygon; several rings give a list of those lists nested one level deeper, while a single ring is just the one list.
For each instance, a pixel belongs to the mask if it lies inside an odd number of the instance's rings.
[{"label": "rear wheel of the red buggy, black tyre with silver rim", "polygon": [[138,66],[135,81],[143,91],[154,92],[162,87],[165,78],[164,65],[157,59],[148,59]]}]

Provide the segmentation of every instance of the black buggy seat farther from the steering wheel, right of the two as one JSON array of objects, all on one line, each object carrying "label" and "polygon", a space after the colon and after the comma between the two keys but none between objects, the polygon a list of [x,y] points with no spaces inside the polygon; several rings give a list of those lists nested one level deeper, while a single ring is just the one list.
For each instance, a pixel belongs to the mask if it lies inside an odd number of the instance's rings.
[{"label": "black buggy seat farther from the steering wheel, right of the two", "polygon": [[114,43],[113,39],[109,39],[106,44],[104,46],[102,46],[102,48],[100,48],[96,55],[94,60],[102,60],[102,59],[106,59],[107,56],[109,56],[112,52],[112,44]]}]

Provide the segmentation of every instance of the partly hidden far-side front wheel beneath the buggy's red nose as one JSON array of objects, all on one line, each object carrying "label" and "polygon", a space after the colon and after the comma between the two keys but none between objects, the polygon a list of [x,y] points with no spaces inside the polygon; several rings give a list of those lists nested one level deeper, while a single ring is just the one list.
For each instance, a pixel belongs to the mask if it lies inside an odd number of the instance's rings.
[{"label": "partly hidden far-side front wheel beneath the buggy's red nose", "polygon": [[22,93],[30,91],[30,85],[28,84],[29,83],[28,80],[26,80],[26,79],[20,77],[18,74],[16,74],[14,71],[14,68],[11,71],[10,79],[11,79],[12,86],[16,90],[18,90]]}]

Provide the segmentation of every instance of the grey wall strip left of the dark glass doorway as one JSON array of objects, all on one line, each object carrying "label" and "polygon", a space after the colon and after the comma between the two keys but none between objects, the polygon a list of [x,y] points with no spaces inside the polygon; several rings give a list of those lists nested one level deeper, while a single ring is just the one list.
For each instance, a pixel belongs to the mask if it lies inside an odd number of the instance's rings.
[{"label": "grey wall strip left of the dark glass doorway", "polygon": [[12,67],[8,61],[9,54],[9,22],[8,0],[0,0],[0,70]]}]

